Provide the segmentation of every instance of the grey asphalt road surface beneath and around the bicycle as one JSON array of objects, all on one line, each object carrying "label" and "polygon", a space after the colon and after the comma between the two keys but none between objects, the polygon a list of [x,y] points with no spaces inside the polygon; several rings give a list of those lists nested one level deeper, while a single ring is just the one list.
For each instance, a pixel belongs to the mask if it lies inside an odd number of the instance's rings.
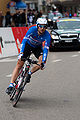
[{"label": "grey asphalt road surface beneath and around the bicycle", "polygon": [[49,52],[12,107],[5,90],[17,58],[0,60],[0,120],[80,120],[80,52]]}]

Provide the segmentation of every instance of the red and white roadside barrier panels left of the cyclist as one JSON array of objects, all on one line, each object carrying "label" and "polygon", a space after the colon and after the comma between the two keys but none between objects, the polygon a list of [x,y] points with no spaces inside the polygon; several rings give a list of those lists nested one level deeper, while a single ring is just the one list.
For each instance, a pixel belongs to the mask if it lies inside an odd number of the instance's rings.
[{"label": "red and white roadside barrier panels left of the cyclist", "polygon": [[28,29],[28,27],[0,28],[0,58],[18,55],[20,44]]}]

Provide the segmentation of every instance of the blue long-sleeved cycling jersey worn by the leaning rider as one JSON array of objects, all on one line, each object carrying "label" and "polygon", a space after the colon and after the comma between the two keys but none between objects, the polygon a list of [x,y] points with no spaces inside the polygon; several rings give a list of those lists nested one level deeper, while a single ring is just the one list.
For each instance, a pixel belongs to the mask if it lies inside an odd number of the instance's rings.
[{"label": "blue long-sleeved cycling jersey worn by the leaning rider", "polygon": [[51,36],[47,30],[45,30],[44,34],[38,35],[37,27],[33,26],[27,31],[25,37],[23,38],[23,41],[21,43],[20,52],[24,52],[26,42],[30,46],[37,48],[40,46],[42,47],[42,42],[45,41],[45,45],[44,45],[44,49],[43,49],[43,59],[42,59],[42,62],[45,62],[46,58],[47,58],[47,54],[48,54],[50,40],[51,40]]}]

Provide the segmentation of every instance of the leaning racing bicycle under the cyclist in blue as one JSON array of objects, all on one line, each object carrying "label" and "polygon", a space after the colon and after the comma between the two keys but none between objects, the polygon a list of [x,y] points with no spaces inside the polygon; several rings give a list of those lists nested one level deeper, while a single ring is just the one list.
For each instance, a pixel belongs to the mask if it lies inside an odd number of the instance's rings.
[{"label": "leaning racing bicycle under the cyclist in blue", "polygon": [[27,58],[24,66],[22,67],[22,69],[19,72],[17,79],[14,82],[14,87],[10,94],[10,100],[13,101],[13,107],[16,107],[18,101],[20,100],[20,97],[24,91],[24,87],[27,84],[26,74],[29,71],[31,65],[33,65],[33,64],[39,65],[38,61]]}]

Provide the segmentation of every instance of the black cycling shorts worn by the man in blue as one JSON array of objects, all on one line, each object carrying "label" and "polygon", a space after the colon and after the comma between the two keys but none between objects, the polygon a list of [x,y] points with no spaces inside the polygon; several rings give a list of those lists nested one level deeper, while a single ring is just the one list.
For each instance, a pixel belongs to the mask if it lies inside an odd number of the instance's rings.
[{"label": "black cycling shorts worn by the man in blue", "polygon": [[33,48],[32,46],[30,46],[27,42],[24,48],[24,53],[21,55],[19,55],[18,58],[22,58],[22,60],[24,60],[27,57],[30,57],[31,54],[34,54],[35,57],[38,59],[39,56],[43,55],[43,50],[42,47],[37,47],[37,48]]}]

